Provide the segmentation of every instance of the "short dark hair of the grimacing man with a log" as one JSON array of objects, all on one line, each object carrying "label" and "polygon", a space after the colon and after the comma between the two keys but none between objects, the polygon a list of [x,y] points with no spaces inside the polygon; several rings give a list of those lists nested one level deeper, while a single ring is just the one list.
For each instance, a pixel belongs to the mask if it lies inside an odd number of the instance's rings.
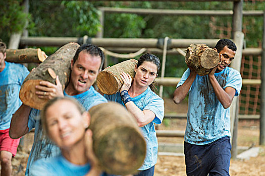
[{"label": "short dark hair of the grimacing man with a log", "polygon": [[102,65],[103,65],[103,63],[104,63],[104,58],[105,58],[105,56],[104,56],[104,54],[103,54],[103,51],[102,51],[99,47],[97,47],[97,46],[95,46],[95,45],[93,45],[93,44],[84,44],[84,45],[80,46],[80,47],[77,49],[76,53],[75,53],[75,56],[74,56],[74,59],[73,59],[73,60],[74,60],[73,64],[74,64],[75,61],[78,59],[79,53],[80,53],[81,51],[86,51],[86,52],[89,53],[91,56],[99,56],[99,57],[101,58],[101,64],[100,64],[99,69],[101,69],[101,67],[102,67]]}]

